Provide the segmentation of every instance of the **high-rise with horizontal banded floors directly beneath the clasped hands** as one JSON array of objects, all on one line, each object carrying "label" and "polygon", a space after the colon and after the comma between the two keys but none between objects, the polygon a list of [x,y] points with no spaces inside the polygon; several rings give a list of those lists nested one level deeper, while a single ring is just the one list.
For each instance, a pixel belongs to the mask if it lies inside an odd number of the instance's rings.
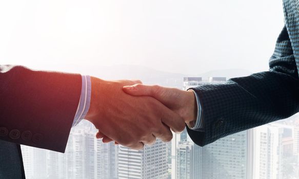
[{"label": "high-rise with horizontal banded floors directly beneath the clasped hands", "polygon": [[168,144],[157,140],[152,146],[133,150],[119,146],[118,178],[166,179],[168,177]]}]

